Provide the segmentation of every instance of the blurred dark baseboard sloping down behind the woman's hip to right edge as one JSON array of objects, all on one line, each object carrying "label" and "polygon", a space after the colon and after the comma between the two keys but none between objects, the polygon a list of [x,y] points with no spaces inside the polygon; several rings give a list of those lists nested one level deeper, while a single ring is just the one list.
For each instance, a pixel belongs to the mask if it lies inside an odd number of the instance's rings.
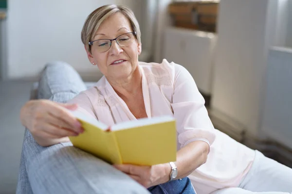
[{"label": "blurred dark baseboard sloping down behind the woman's hip to right edge", "polygon": [[272,139],[262,140],[256,138],[246,130],[245,126],[218,110],[210,108],[208,113],[216,129],[226,133],[237,142],[259,150],[265,156],[292,168],[292,149]]}]

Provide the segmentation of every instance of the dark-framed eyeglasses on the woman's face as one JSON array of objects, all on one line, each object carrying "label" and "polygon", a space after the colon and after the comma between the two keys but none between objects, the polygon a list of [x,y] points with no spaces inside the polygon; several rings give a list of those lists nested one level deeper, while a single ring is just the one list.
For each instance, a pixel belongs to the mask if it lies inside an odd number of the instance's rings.
[{"label": "dark-framed eyeglasses on the woman's face", "polygon": [[135,40],[136,32],[128,32],[122,35],[119,35],[115,39],[98,39],[89,42],[88,44],[92,46],[93,49],[98,52],[105,52],[110,49],[111,41],[116,41],[120,47],[128,47]]}]

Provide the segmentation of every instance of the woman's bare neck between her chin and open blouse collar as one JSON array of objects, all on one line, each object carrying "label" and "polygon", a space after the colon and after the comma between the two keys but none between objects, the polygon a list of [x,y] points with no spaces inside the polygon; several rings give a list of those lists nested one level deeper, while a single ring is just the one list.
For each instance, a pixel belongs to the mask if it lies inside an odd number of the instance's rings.
[{"label": "woman's bare neck between her chin and open blouse collar", "polygon": [[124,79],[107,79],[114,91],[122,98],[129,99],[142,91],[142,72],[137,66],[133,73]]}]

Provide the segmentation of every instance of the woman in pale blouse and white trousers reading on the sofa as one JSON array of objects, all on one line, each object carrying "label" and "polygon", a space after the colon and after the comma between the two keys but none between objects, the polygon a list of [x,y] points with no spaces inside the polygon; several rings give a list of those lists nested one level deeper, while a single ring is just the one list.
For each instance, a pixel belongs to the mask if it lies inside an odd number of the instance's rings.
[{"label": "woman in pale blouse and white trousers reading on the sofa", "polygon": [[214,129],[204,99],[185,68],[166,60],[162,64],[138,62],[140,38],[138,22],[124,6],[102,6],[88,16],[81,39],[89,61],[104,76],[69,101],[73,105],[46,100],[26,103],[21,121],[37,143],[52,146],[83,132],[64,107],[107,125],[169,114],[177,121],[180,149],[176,162],[114,167],[152,193],[159,187],[159,193],[170,189],[168,193],[193,194],[187,176],[198,194],[291,193],[292,169]]}]

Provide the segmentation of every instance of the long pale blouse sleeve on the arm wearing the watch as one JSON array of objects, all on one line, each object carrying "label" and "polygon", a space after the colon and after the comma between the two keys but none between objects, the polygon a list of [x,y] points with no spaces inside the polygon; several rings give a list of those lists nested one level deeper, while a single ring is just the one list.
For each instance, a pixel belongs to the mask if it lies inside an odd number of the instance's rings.
[{"label": "long pale blouse sleeve on the arm wearing the watch", "polygon": [[176,118],[178,141],[181,147],[193,141],[204,141],[209,146],[215,141],[214,126],[205,108],[205,100],[191,74],[181,65],[174,69],[172,109]]}]

